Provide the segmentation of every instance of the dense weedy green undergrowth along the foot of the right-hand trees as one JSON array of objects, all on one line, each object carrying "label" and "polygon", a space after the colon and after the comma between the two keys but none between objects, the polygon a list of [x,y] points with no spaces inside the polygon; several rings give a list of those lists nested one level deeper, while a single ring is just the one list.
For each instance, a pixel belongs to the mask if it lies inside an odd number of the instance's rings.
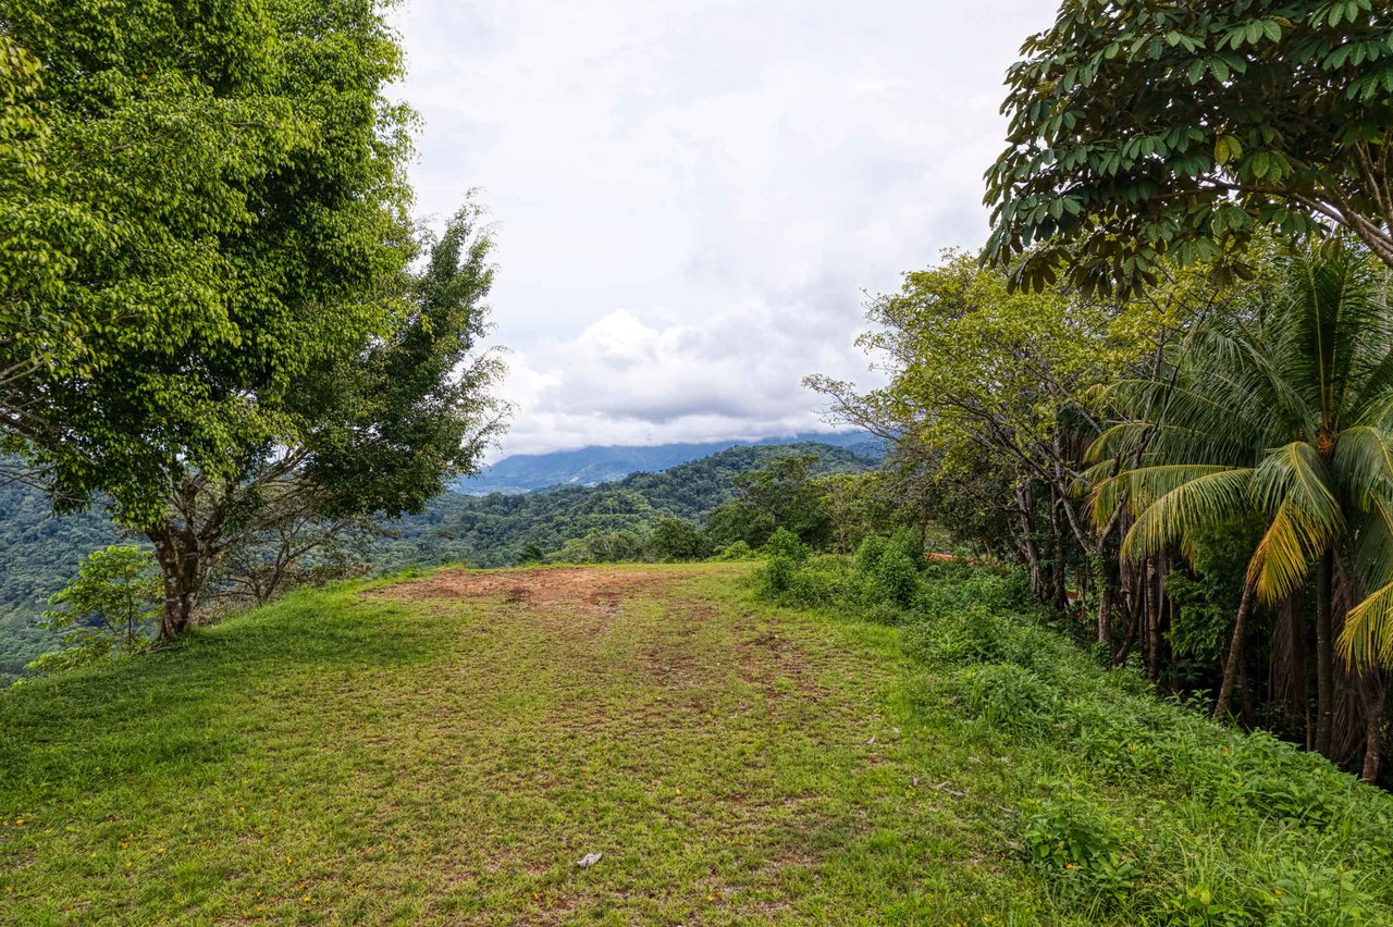
[{"label": "dense weedy green undergrowth along the foot of the right-hand trees", "polygon": [[776,537],[763,594],[901,626],[922,714],[949,704],[986,749],[1024,757],[983,825],[1060,909],[1197,927],[1393,923],[1393,796],[1156,697],[1052,626],[1021,578],[921,565],[914,540],[847,558]]}]

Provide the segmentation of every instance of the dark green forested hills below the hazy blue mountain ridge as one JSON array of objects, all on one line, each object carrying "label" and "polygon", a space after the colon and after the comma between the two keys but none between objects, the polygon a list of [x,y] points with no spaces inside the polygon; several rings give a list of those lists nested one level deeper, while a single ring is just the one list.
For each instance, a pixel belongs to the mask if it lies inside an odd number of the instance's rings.
[{"label": "dark green forested hills below the hazy blue mountain ridge", "polygon": [[[883,526],[897,511],[893,487],[873,476],[878,466],[876,458],[829,444],[734,447],[592,487],[486,497],[443,493],[422,514],[397,521],[326,522],[301,511],[279,521],[276,530],[228,546],[195,612],[212,617],[299,585],[408,566],[741,557],[777,526],[819,546],[855,543],[872,519]],[[100,509],[56,516],[42,491],[21,483],[0,487],[0,515],[4,683],[59,646],[59,635],[36,619],[89,553],[118,541],[145,544]]]}]

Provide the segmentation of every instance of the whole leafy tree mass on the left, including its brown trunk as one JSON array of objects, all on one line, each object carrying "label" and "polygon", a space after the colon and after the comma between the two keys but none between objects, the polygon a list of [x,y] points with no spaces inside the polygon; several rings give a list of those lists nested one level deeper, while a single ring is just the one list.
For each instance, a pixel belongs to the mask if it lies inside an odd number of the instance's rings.
[{"label": "whole leafy tree mass on the left, including its brown trunk", "polygon": [[489,239],[410,273],[375,0],[4,3],[0,64],[0,450],[150,537],[162,636],[260,487],[398,512],[472,465]]}]

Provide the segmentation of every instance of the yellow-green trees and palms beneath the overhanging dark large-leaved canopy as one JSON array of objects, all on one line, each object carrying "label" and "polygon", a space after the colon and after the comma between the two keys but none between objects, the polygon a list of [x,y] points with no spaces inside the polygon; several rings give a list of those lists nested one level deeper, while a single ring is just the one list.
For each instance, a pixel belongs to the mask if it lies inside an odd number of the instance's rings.
[{"label": "yellow-green trees and palms beneath the overhanging dark large-leaved canopy", "polygon": [[1250,281],[1013,291],[967,256],[871,303],[887,387],[814,379],[1114,664],[1373,781],[1393,579],[1389,273],[1273,244]]}]

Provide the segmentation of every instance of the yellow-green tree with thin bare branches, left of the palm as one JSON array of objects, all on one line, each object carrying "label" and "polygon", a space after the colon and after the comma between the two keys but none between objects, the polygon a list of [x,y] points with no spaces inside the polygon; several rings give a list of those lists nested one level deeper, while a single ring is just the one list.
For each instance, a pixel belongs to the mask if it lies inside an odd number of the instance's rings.
[{"label": "yellow-green tree with thin bare branches, left of the palm", "polygon": [[[1220,294],[1177,274],[1145,301],[1092,301],[1064,287],[1011,292],[1007,276],[965,253],[905,274],[869,303],[859,345],[890,374],[878,390],[809,377],[830,412],[893,440],[905,462],[944,486],[946,522],[1007,523],[1009,543],[1042,596],[1064,607],[1066,550],[1099,562],[1120,509],[1091,530],[1080,486],[1084,448],[1102,429],[1094,387],[1149,369],[1165,342]],[[976,532],[963,540],[979,541]],[[1098,632],[1110,640],[1112,596]]]}]

